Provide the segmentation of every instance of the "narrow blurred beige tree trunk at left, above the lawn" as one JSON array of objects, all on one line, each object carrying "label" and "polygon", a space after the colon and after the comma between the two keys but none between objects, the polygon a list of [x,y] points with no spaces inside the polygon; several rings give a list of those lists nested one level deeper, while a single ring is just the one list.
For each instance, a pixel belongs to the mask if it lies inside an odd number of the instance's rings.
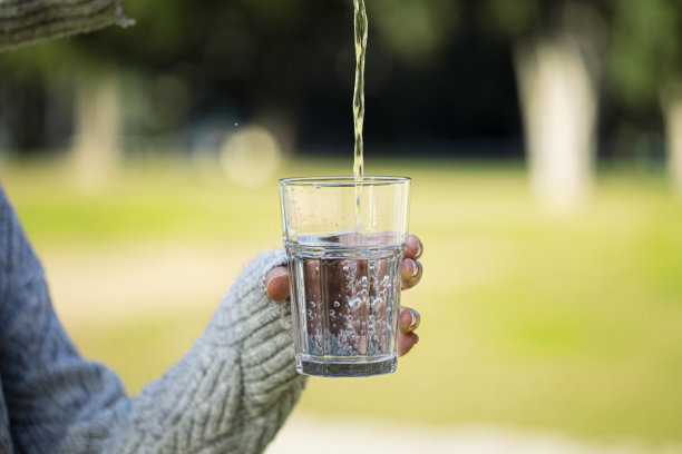
[{"label": "narrow blurred beige tree trunk at left, above the lawn", "polygon": [[76,81],[74,170],[87,188],[105,184],[119,166],[120,100],[115,71],[95,71]]}]

